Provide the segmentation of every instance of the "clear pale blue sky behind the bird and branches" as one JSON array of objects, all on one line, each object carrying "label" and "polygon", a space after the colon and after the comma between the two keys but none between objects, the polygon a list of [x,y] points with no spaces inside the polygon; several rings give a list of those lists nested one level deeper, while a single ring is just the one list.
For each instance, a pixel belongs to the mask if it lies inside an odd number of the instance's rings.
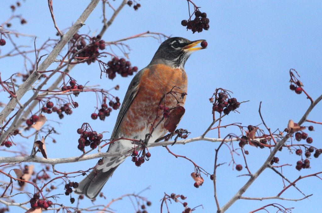
[{"label": "clear pale blue sky behind the bird and branches", "polygon": [[[0,21],[3,22],[10,16],[9,8],[15,1],[3,2]],[[54,1],[54,13],[60,29],[71,26],[76,21],[89,1]],[[111,1],[117,7],[120,1]],[[289,69],[294,68],[301,76],[304,89],[317,98],[321,92],[322,83],[322,3],[321,1],[200,1],[194,3],[201,6],[200,10],[207,13],[210,19],[210,29],[202,33],[186,31],[180,25],[181,20],[188,18],[188,7],[185,0],[181,1],[138,1],[141,7],[138,11],[125,6],[119,13],[113,24],[110,26],[103,39],[114,41],[147,30],[161,32],[169,36],[180,36],[190,40],[206,39],[208,48],[193,53],[185,65],[188,74],[188,96],[185,104],[185,116],[179,124],[180,128],[188,129],[189,137],[201,135],[212,122],[212,105],[208,98],[216,88],[224,88],[234,92],[233,97],[238,101],[250,100],[242,104],[238,109],[240,114],[231,113],[223,119],[222,124],[240,122],[242,125],[258,125],[261,123],[258,114],[258,107],[262,101],[262,115],[266,124],[272,129],[283,130],[287,127],[289,119],[297,122],[309,106],[309,101],[304,94],[297,95],[289,90]],[[81,33],[96,35],[101,29],[101,4],[90,15],[81,29]],[[111,10],[107,9],[107,18]],[[15,14],[22,14],[27,24],[21,26],[18,21],[13,22],[11,29],[19,32],[37,36],[36,46],[40,47],[43,41],[48,38],[57,38],[56,30],[48,10],[47,1],[26,1],[22,7],[17,9]],[[19,39],[14,38],[17,42]],[[33,46],[33,38],[21,38],[22,41]],[[9,43],[9,42],[8,42]],[[24,44],[25,44],[24,43]],[[139,69],[144,68],[152,59],[153,54],[160,43],[153,38],[138,38],[125,41],[131,51],[129,58],[133,65]],[[6,45],[1,48],[1,54],[12,48]],[[121,56],[117,48],[113,48],[116,54]],[[30,55],[32,59],[33,55]],[[24,61],[15,57],[1,60],[1,77],[6,79],[13,72],[24,72]],[[53,64],[51,68],[54,68]],[[113,95],[120,97],[121,101],[132,77],[121,78],[117,76],[113,81],[99,79],[100,71],[97,63],[81,64],[76,66],[71,76],[78,83],[89,85],[101,85],[104,89],[120,85],[118,91]],[[2,97],[6,98],[6,97]],[[5,102],[3,99],[2,102]],[[81,94],[75,98],[80,107],[73,110],[71,116],[65,116],[58,120],[57,115],[52,114],[47,119],[62,122],[54,124],[60,135],[55,136],[57,144],[48,141],[47,150],[49,158],[62,158],[80,155],[77,150],[78,135],[76,129],[83,122],[89,122],[97,132],[112,131],[117,113],[113,112],[104,122],[93,121],[90,114],[96,106],[96,99],[93,94]],[[321,103],[309,115],[310,120],[321,122]],[[306,124],[309,125],[309,124]],[[264,129],[263,125],[260,125]],[[321,147],[322,127],[314,125],[315,132],[306,131],[314,142],[312,145]],[[222,137],[229,133],[240,134],[236,127],[222,130]],[[105,133],[104,138],[109,138],[110,133]],[[208,137],[217,138],[215,131],[209,132]],[[30,153],[32,140],[19,139],[27,147]],[[185,155],[194,160],[199,166],[209,173],[213,171],[214,150],[219,143],[198,141],[186,145],[176,145],[170,149],[179,155]],[[11,148],[16,149],[16,148]],[[265,161],[270,151],[268,149],[257,149],[247,147],[250,155],[247,161],[252,172],[255,172]],[[159,212],[160,202],[164,192],[171,194],[183,194],[188,206],[198,207],[194,212],[215,212],[213,198],[213,183],[209,177],[205,177],[203,186],[194,188],[194,181],[190,173],[194,171],[193,165],[185,159],[177,159],[168,154],[166,149],[158,147],[150,150],[150,161],[141,167],[136,167],[130,159],[127,159],[118,167],[112,178],[103,188],[106,200],[98,198],[95,204],[107,204],[111,199],[117,198],[126,193],[140,192],[150,186],[150,190],[141,195],[152,201],[148,212]],[[292,164],[293,166],[283,167],[283,174],[289,180],[295,180],[299,175],[308,175],[321,171],[321,157],[312,158],[311,169],[298,172],[295,169],[299,156],[290,154],[283,149],[278,152],[280,165]],[[235,161],[244,165],[242,156],[235,156]],[[218,200],[223,206],[248,180],[247,176],[237,177],[245,174],[232,170],[228,166],[231,160],[229,150],[221,149],[219,163],[226,162],[217,170]],[[97,160],[74,163],[69,165],[57,165],[60,171],[76,171],[88,169]],[[39,166],[39,165],[38,165]],[[54,175],[52,175],[54,177]],[[77,178],[78,181],[81,178]],[[75,180],[75,181],[77,181]],[[58,183],[58,182],[57,182]],[[322,182],[318,178],[310,177],[297,183],[297,187],[305,194],[313,193],[309,200],[298,202],[282,200],[248,201],[238,200],[227,212],[249,212],[269,203],[280,203],[286,208],[295,207],[293,212],[317,212],[316,208],[321,203]],[[275,196],[283,188],[282,179],[270,171],[265,170],[255,183],[247,190],[244,196],[266,197]],[[55,193],[63,193],[63,190]],[[77,197],[73,195],[73,197]],[[299,199],[302,195],[294,188],[283,194],[284,198]],[[25,198],[25,200],[27,200]],[[16,200],[16,201],[25,201]],[[67,200],[67,201],[66,201]],[[58,203],[69,203],[69,196],[62,195]],[[75,204],[73,204],[75,205]],[[89,200],[82,200],[81,206],[90,205]],[[1,207],[1,205],[0,205]],[[130,200],[124,199],[111,206],[117,212],[135,212]],[[22,209],[11,207],[12,212],[21,212]],[[183,207],[178,203],[169,205],[170,212],[181,212]],[[269,208],[270,212],[277,209]],[[166,209],[164,209],[166,212]],[[264,212],[264,211],[262,211]]]}]

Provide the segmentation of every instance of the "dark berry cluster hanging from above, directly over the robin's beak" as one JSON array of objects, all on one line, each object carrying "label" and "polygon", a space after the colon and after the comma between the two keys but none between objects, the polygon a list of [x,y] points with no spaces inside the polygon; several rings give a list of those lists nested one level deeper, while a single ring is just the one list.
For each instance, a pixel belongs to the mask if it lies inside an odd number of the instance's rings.
[{"label": "dark berry cluster hanging from above, directly over the robin's beak", "polygon": [[187,27],[187,30],[191,30],[193,33],[202,32],[203,30],[209,30],[209,19],[207,13],[202,13],[198,9],[194,11],[195,18],[191,20],[182,20],[181,25]]}]

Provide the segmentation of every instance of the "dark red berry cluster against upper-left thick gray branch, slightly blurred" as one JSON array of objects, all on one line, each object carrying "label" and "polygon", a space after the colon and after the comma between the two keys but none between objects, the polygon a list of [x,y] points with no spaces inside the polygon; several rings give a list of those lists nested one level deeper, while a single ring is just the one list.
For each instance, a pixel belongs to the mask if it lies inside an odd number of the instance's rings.
[{"label": "dark red berry cluster against upper-left thick gray branch, slightly blurred", "polygon": [[76,56],[80,58],[81,62],[86,61],[87,64],[91,64],[92,62],[95,62],[97,57],[99,56],[99,49],[105,49],[105,41],[100,39],[100,35],[98,35],[97,37],[94,36],[89,39],[90,43],[86,44],[85,39],[76,33],[71,40],[72,42],[75,42],[76,48],[74,48],[71,52],[75,54],[77,51],[84,48],[83,51],[78,53]]}]

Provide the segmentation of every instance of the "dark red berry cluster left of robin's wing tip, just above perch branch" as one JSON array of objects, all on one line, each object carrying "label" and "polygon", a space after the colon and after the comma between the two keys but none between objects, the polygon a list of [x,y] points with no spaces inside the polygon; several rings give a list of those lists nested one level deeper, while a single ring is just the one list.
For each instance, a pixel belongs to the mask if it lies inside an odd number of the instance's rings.
[{"label": "dark red berry cluster left of robin's wing tip, just above perch branch", "polygon": [[80,134],[77,148],[83,152],[85,152],[85,146],[90,146],[91,149],[96,149],[103,138],[101,133],[97,133],[92,130],[88,131],[89,129],[88,125],[83,125],[82,128],[77,129],[77,133]]}]

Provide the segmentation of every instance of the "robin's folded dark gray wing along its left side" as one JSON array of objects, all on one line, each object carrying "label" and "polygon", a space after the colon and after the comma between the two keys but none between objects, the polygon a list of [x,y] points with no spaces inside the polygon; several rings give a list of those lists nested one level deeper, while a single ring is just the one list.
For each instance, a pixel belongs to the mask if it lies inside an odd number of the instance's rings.
[{"label": "robin's folded dark gray wing along its left side", "polygon": [[135,96],[137,95],[137,92],[138,92],[138,88],[137,88],[137,85],[139,84],[140,82],[140,79],[141,79],[141,75],[142,73],[147,69],[146,68],[143,68],[142,70],[140,70],[135,76],[134,78],[132,79],[130,85],[128,86],[128,91],[126,92],[125,94],[125,97],[124,97],[124,100],[123,100],[123,103],[122,103],[122,106],[121,106],[121,109],[118,113],[118,118],[116,119],[116,123],[115,123],[115,127],[114,127],[114,130],[112,132],[112,136],[111,136],[111,139],[113,140],[114,137],[116,137],[117,133],[118,133],[118,128],[120,126],[120,124],[122,123],[126,113],[128,112],[128,108],[130,108],[132,102],[133,102],[133,99],[135,98]]}]

